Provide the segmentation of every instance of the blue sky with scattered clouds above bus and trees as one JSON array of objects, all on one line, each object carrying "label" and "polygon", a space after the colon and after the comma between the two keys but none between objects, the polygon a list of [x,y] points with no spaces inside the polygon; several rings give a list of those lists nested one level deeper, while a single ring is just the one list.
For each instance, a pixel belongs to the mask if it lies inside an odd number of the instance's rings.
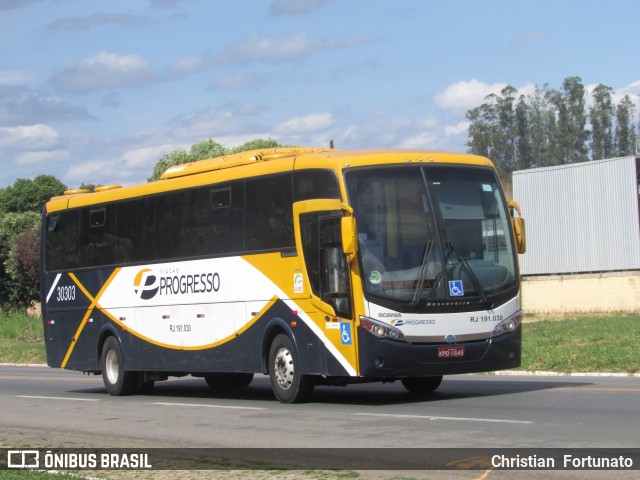
[{"label": "blue sky with scattered clouds above bus and trees", "polygon": [[639,18],[638,0],[0,0],[0,188],[144,183],[207,138],[465,152],[486,95],[570,76],[640,106]]}]

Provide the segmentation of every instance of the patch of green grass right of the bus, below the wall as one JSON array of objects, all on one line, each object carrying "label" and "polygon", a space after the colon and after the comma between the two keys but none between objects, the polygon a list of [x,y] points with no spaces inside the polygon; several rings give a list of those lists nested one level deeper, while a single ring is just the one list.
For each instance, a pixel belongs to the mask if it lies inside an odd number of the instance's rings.
[{"label": "patch of green grass right of the bus, below the wall", "polygon": [[640,314],[525,323],[522,335],[521,370],[640,372]]}]

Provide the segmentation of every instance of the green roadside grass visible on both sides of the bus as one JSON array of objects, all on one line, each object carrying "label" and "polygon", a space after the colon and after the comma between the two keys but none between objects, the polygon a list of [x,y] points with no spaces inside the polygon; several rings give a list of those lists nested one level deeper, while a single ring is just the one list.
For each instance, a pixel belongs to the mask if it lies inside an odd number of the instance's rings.
[{"label": "green roadside grass visible on both sides of the bus", "polygon": [[[525,317],[519,370],[640,373],[638,345],[637,313]],[[39,316],[0,313],[0,363],[46,363]]]}]

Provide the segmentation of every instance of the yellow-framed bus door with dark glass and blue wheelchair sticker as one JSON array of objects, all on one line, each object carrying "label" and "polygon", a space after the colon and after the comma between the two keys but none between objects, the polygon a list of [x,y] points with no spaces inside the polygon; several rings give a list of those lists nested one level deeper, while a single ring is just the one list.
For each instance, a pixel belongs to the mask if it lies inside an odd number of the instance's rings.
[{"label": "yellow-framed bus door with dark glass and blue wheelchair sticker", "polygon": [[[298,252],[302,252],[308,293],[316,322],[335,349],[357,371],[356,331],[349,263],[355,258],[353,211],[339,200],[293,204]],[[329,372],[331,373],[331,372]]]}]

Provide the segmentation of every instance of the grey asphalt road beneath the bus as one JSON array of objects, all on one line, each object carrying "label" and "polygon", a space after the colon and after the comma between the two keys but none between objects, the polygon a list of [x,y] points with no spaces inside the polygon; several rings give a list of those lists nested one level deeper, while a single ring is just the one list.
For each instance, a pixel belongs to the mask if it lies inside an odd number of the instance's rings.
[{"label": "grey asphalt road beneath the bus", "polygon": [[639,399],[637,377],[490,375],[445,377],[427,397],[399,383],[318,387],[312,403],[299,405],[277,402],[263,376],[238,391],[215,392],[186,377],[157,383],[149,395],[111,397],[99,376],[0,366],[0,440],[285,450],[639,448]]}]

